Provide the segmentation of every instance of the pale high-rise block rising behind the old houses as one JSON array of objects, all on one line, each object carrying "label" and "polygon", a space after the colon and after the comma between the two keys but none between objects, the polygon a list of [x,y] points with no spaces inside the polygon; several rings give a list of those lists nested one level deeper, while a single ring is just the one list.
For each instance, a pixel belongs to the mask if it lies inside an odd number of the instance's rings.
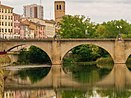
[{"label": "pale high-rise block rising behind the old houses", "polygon": [[24,6],[24,16],[43,19],[43,6],[37,4]]}]

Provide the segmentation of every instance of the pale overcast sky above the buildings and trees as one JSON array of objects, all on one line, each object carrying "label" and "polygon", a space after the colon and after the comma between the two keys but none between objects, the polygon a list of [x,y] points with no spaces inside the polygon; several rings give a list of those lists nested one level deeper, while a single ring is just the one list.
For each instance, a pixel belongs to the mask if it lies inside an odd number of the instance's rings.
[{"label": "pale overcast sky above the buildings and trees", "polygon": [[[44,18],[54,18],[54,0],[41,0]],[[58,1],[58,0],[57,0]],[[23,14],[23,5],[40,4],[40,0],[1,0],[2,4],[14,7],[14,12]],[[131,22],[131,0],[65,0],[66,14],[85,15],[93,22],[125,19]]]}]

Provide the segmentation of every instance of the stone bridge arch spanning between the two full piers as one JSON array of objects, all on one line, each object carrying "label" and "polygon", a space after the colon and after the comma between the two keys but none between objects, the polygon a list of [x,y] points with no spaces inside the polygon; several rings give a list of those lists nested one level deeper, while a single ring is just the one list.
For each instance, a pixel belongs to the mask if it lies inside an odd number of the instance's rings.
[{"label": "stone bridge arch spanning between the two full piers", "polygon": [[66,45],[63,44],[63,46],[61,46],[61,60],[63,60],[64,56],[73,48],[80,46],[80,45],[95,45],[98,46],[102,49],[104,49],[105,51],[107,51],[111,58],[114,61],[114,43],[109,42],[109,44],[104,44],[103,42],[74,42],[74,43],[66,43]]}]

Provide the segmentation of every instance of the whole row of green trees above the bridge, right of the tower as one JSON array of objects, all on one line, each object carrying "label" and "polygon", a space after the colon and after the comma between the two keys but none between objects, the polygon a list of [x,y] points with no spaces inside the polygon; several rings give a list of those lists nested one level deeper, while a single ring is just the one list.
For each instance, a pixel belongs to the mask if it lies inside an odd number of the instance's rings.
[{"label": "whole row of green trees above the bridge, right of the tower", "polygon": [[62,38],[116,38],[131,37],[131,24],[126,20],[111,20],[96,24],[90,18],[80,15],[66,15],[59,24],[57,32]]}]

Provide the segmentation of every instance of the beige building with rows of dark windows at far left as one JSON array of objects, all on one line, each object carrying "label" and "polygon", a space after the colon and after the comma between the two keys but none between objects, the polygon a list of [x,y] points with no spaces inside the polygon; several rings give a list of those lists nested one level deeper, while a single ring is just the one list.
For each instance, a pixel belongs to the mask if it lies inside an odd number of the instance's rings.
[{"label": "beige building with rows of dark windows at far left", "polygon": [[0,38],[11,38],[13,34],[13,8],[0,2]]}]

